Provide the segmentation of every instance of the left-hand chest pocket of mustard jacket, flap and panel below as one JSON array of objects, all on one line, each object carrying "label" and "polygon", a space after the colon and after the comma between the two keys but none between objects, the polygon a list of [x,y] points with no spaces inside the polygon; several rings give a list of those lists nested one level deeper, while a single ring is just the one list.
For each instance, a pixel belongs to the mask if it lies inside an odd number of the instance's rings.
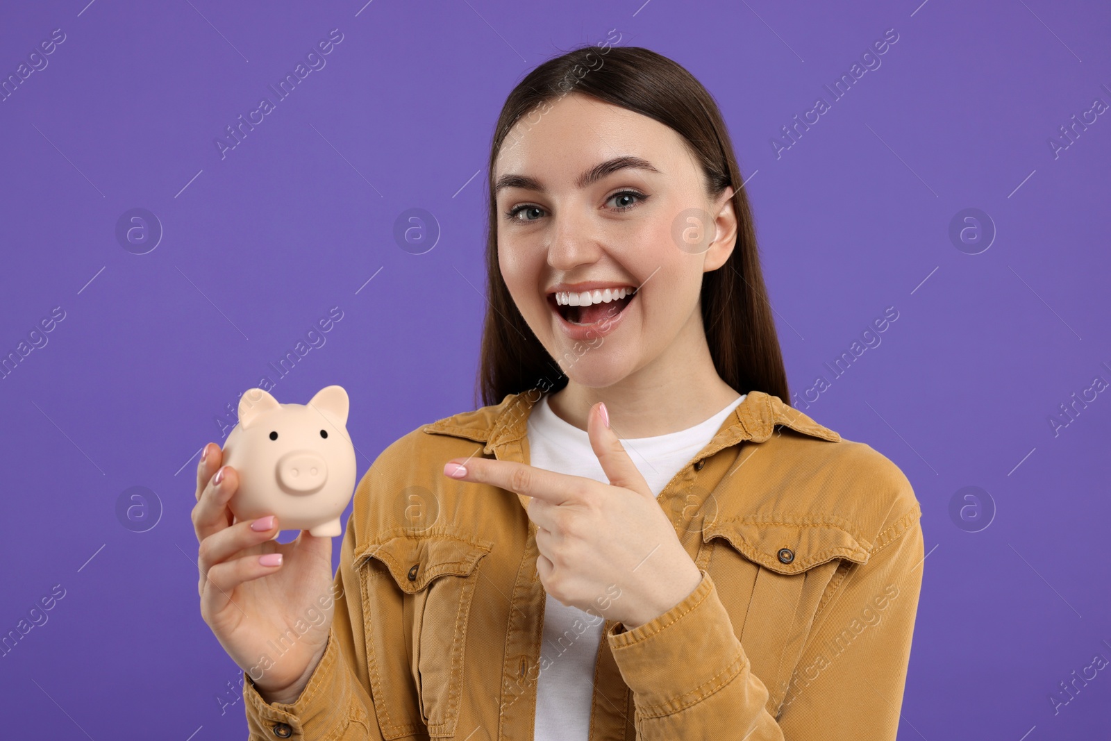
[{"label": "left-hand chest pocket of mustard jacket, flap and panel below", "polygon": [[367,660],[387,739],[426,728],[432,738],[454,734],[478,564],[492,548],[423,532],[366,549]]}]

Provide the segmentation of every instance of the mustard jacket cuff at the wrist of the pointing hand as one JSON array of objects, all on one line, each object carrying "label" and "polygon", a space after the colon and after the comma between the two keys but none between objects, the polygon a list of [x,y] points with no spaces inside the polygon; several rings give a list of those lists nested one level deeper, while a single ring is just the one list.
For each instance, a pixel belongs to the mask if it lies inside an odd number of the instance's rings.
[{"label": "mustard jacket cuff at the wrist of the pointing hand", "polygon": [[633,628],[607,632],[613,659],[644,718],[668,715],[710,697],[748,664],[709,572],[682,602]]}]

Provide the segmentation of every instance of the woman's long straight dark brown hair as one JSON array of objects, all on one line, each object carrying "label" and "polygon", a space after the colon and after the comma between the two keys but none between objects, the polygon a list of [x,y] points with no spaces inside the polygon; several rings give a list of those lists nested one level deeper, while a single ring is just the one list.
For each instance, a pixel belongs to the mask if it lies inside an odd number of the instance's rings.
[{"label": "woman's long straight dark brown hair", "polygon": [[760,271],[755,230],[741,171],[713,97],[684,68],[640,47],[581,47],[543,62],[506,99],[490,146],[487,201],[489,307],[482,328],[482,360],[476,395],[496,404],[506,394],[567,385],[556,360],[518,310],[498,262],[494,163],[502,142],[524,114],[568,92],[591,96],[674,129],[701,163],[708,192],[733,186],[737,242],[723,266],[702,276],[701,310],[718,374],[738,393],[763,391],[790,403],[787,371]]}]

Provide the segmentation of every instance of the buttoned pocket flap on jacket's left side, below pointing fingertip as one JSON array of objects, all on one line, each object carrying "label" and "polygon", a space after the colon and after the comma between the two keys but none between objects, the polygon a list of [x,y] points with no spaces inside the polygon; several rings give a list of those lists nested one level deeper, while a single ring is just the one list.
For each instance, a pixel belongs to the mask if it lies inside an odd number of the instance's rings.
[{"label": "buttoned pocket flap on jacket's left side, below pointing fingertip", "polygon": [[490,552],[488,540],[461,537],[458,533],[421,532],[386,537],[359,550],[357,563],[376,558],[389,569],[398,587],[414,594],[443,575],[467,577],[479,560]]}]

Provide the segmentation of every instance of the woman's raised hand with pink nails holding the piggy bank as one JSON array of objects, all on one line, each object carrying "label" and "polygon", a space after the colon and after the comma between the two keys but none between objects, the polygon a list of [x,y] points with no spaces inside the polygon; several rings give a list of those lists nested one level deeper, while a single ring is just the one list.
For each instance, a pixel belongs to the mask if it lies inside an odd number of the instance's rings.
[{"label": "woman's raised hand with pink nails holding the piggy bank", "polygon": [[[263,700],[294,702],[328,647],[332,539],[302,530],[297,540],[279,543],[271,540],[281,525],[277,518],[236,522],[228,500],[239,474],[223,467],[217,482],[222,459],[220,447],[208,443],[197,469],[192,520],[200,543],[201,615]],[[308,631],[299,633],[298,623]]]}]

